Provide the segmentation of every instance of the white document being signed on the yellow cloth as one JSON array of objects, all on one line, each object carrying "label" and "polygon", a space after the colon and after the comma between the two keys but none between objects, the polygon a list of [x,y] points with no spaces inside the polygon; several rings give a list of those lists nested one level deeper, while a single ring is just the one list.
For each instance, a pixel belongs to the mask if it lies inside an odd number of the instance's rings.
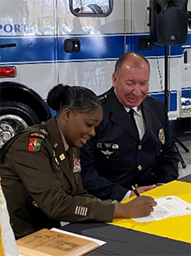
[{"label": "white document being signed on the yellow cloth", "polygon": [[191,205],[176,196],[169,195],[154,200],[157,206],[154,206],[154,212],[151,212],[151,215],[132,219],[135,222],[156,222],[163,218],[191,214]]}]

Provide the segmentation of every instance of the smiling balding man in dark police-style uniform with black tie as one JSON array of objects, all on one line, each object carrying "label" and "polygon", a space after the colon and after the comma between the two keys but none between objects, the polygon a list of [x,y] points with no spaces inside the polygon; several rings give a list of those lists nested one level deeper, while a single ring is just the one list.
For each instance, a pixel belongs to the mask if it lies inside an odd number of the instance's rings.
[{"label": "smiling balding man in dark police-style uniform with black tie", "polygon": [[145,57],[124,54],[115,64],[113,87],[100,96],[103,120],[80,156],[83,185],[100,199],[121,201],[134,195],[132,185],[141,193],[178,177],[167,111],[147,95],[149,75]]}]

